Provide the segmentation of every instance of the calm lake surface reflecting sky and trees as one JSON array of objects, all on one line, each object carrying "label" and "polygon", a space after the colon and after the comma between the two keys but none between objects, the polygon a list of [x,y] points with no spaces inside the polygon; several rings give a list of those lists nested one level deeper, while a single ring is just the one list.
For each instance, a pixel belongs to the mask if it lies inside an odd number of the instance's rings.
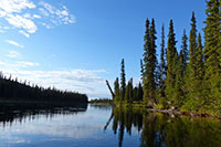
[{"label": "calm lake surface reflecting sky and trees", "polygon": [[8,146],[220,147],[221,123],[109,106],[1,106],[0,147]]}]

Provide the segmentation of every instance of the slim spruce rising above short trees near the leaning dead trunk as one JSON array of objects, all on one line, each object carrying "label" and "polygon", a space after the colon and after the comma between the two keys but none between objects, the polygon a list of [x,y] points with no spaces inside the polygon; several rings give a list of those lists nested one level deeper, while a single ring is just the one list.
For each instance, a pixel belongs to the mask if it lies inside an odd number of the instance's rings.
[{"label": "slim spruce rising above short trees near the leaning dead trunk", "polygon": [[126,92],[126,77],[125,77],[125,63],[124,59],[122,60],[122,73],[120,73],[120,101],[125,99]]}]

